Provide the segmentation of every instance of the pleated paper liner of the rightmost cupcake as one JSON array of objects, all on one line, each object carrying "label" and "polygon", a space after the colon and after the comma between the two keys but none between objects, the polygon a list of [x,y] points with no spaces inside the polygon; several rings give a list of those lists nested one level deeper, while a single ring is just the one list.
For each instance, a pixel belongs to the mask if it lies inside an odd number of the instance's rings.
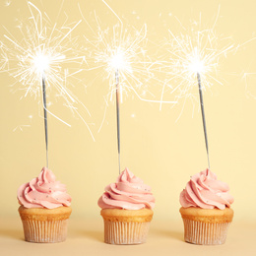
[{"label": "pleated paper liner of the rightmost cupcake", "polygon": [[185,219],[183,219],[183,223],[185,241],[202,245],[224,244],[230,224],[211,224]]}]

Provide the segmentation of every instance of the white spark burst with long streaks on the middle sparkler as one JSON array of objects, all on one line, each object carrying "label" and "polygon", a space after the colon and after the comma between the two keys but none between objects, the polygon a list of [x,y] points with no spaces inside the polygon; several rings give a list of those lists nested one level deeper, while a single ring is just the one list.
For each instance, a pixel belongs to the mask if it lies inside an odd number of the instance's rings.
[{"label": "white spark burst with long streaks on the middle sparkler", "polygon": [[[175,100],[156,99],[157,97],[150,92],[150,83],[160,80],[156,79],[153,72],[155,62],[147,54],[147,25],[144,24],[140,30],[137,30],[134,26],[124,24],[111,7],[104,0],[102,2],[118,21],[114,26],[104,29],[102,29],[102,23],[96,13],[94,18],[96,30],[93,29],[94,26],[87,21],[78,5],[83,20],[93,33],[91,36],[87,33],[85,36],[88,45],[86,48],[89,52],[89,56],[87,56],[88,71],[98,71],[97,75],[102,78],[102,81],[108,81],[108,89],[102,88],[101,90],[101,92],[106,92],[103,95],[105,108],[98,132],[105,120],[109,102],[113,102],[115,99],[117,81],[120,102],[123,102],[126,97],[136,96],[147,102],[176,103]],[[137,15],[135,11],[132,14]]]}]

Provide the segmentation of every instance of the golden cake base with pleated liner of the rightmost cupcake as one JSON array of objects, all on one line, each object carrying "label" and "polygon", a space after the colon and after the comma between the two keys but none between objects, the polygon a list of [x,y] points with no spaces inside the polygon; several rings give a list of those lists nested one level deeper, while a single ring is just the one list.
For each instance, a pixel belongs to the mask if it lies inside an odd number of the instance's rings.
[{"label": "golden cake base with pleated liner of the rightmost cupcake", "polygon": [[182,207],[179,211],[184,223],[186,242],[202,245],[224,244],[228,226],[233,218],[231,209]]}]

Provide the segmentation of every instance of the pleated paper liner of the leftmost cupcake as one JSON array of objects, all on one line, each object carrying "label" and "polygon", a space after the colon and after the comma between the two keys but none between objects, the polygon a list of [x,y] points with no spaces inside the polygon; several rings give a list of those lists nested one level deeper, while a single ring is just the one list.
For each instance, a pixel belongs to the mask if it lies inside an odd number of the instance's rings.
[{"label": "pleated paper liner of the leftmost cupcake", "polygon": [[25,240],[29,242],[62,242],[66,240],[68,220],[36,221],[22,220]]}]

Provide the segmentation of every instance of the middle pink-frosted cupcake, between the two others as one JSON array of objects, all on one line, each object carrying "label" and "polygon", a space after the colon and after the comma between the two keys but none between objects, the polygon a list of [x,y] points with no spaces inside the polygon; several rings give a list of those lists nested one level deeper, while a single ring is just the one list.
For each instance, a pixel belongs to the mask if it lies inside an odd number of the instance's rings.
[{"label": "middle pink-frosted cupcake, between the two others", "polygon": [[98,199],[104,221],[104,242],[110,244],[145,243],[153,218],[155,198],[151,188],[128,168],[115,183],[105,187]]}]

